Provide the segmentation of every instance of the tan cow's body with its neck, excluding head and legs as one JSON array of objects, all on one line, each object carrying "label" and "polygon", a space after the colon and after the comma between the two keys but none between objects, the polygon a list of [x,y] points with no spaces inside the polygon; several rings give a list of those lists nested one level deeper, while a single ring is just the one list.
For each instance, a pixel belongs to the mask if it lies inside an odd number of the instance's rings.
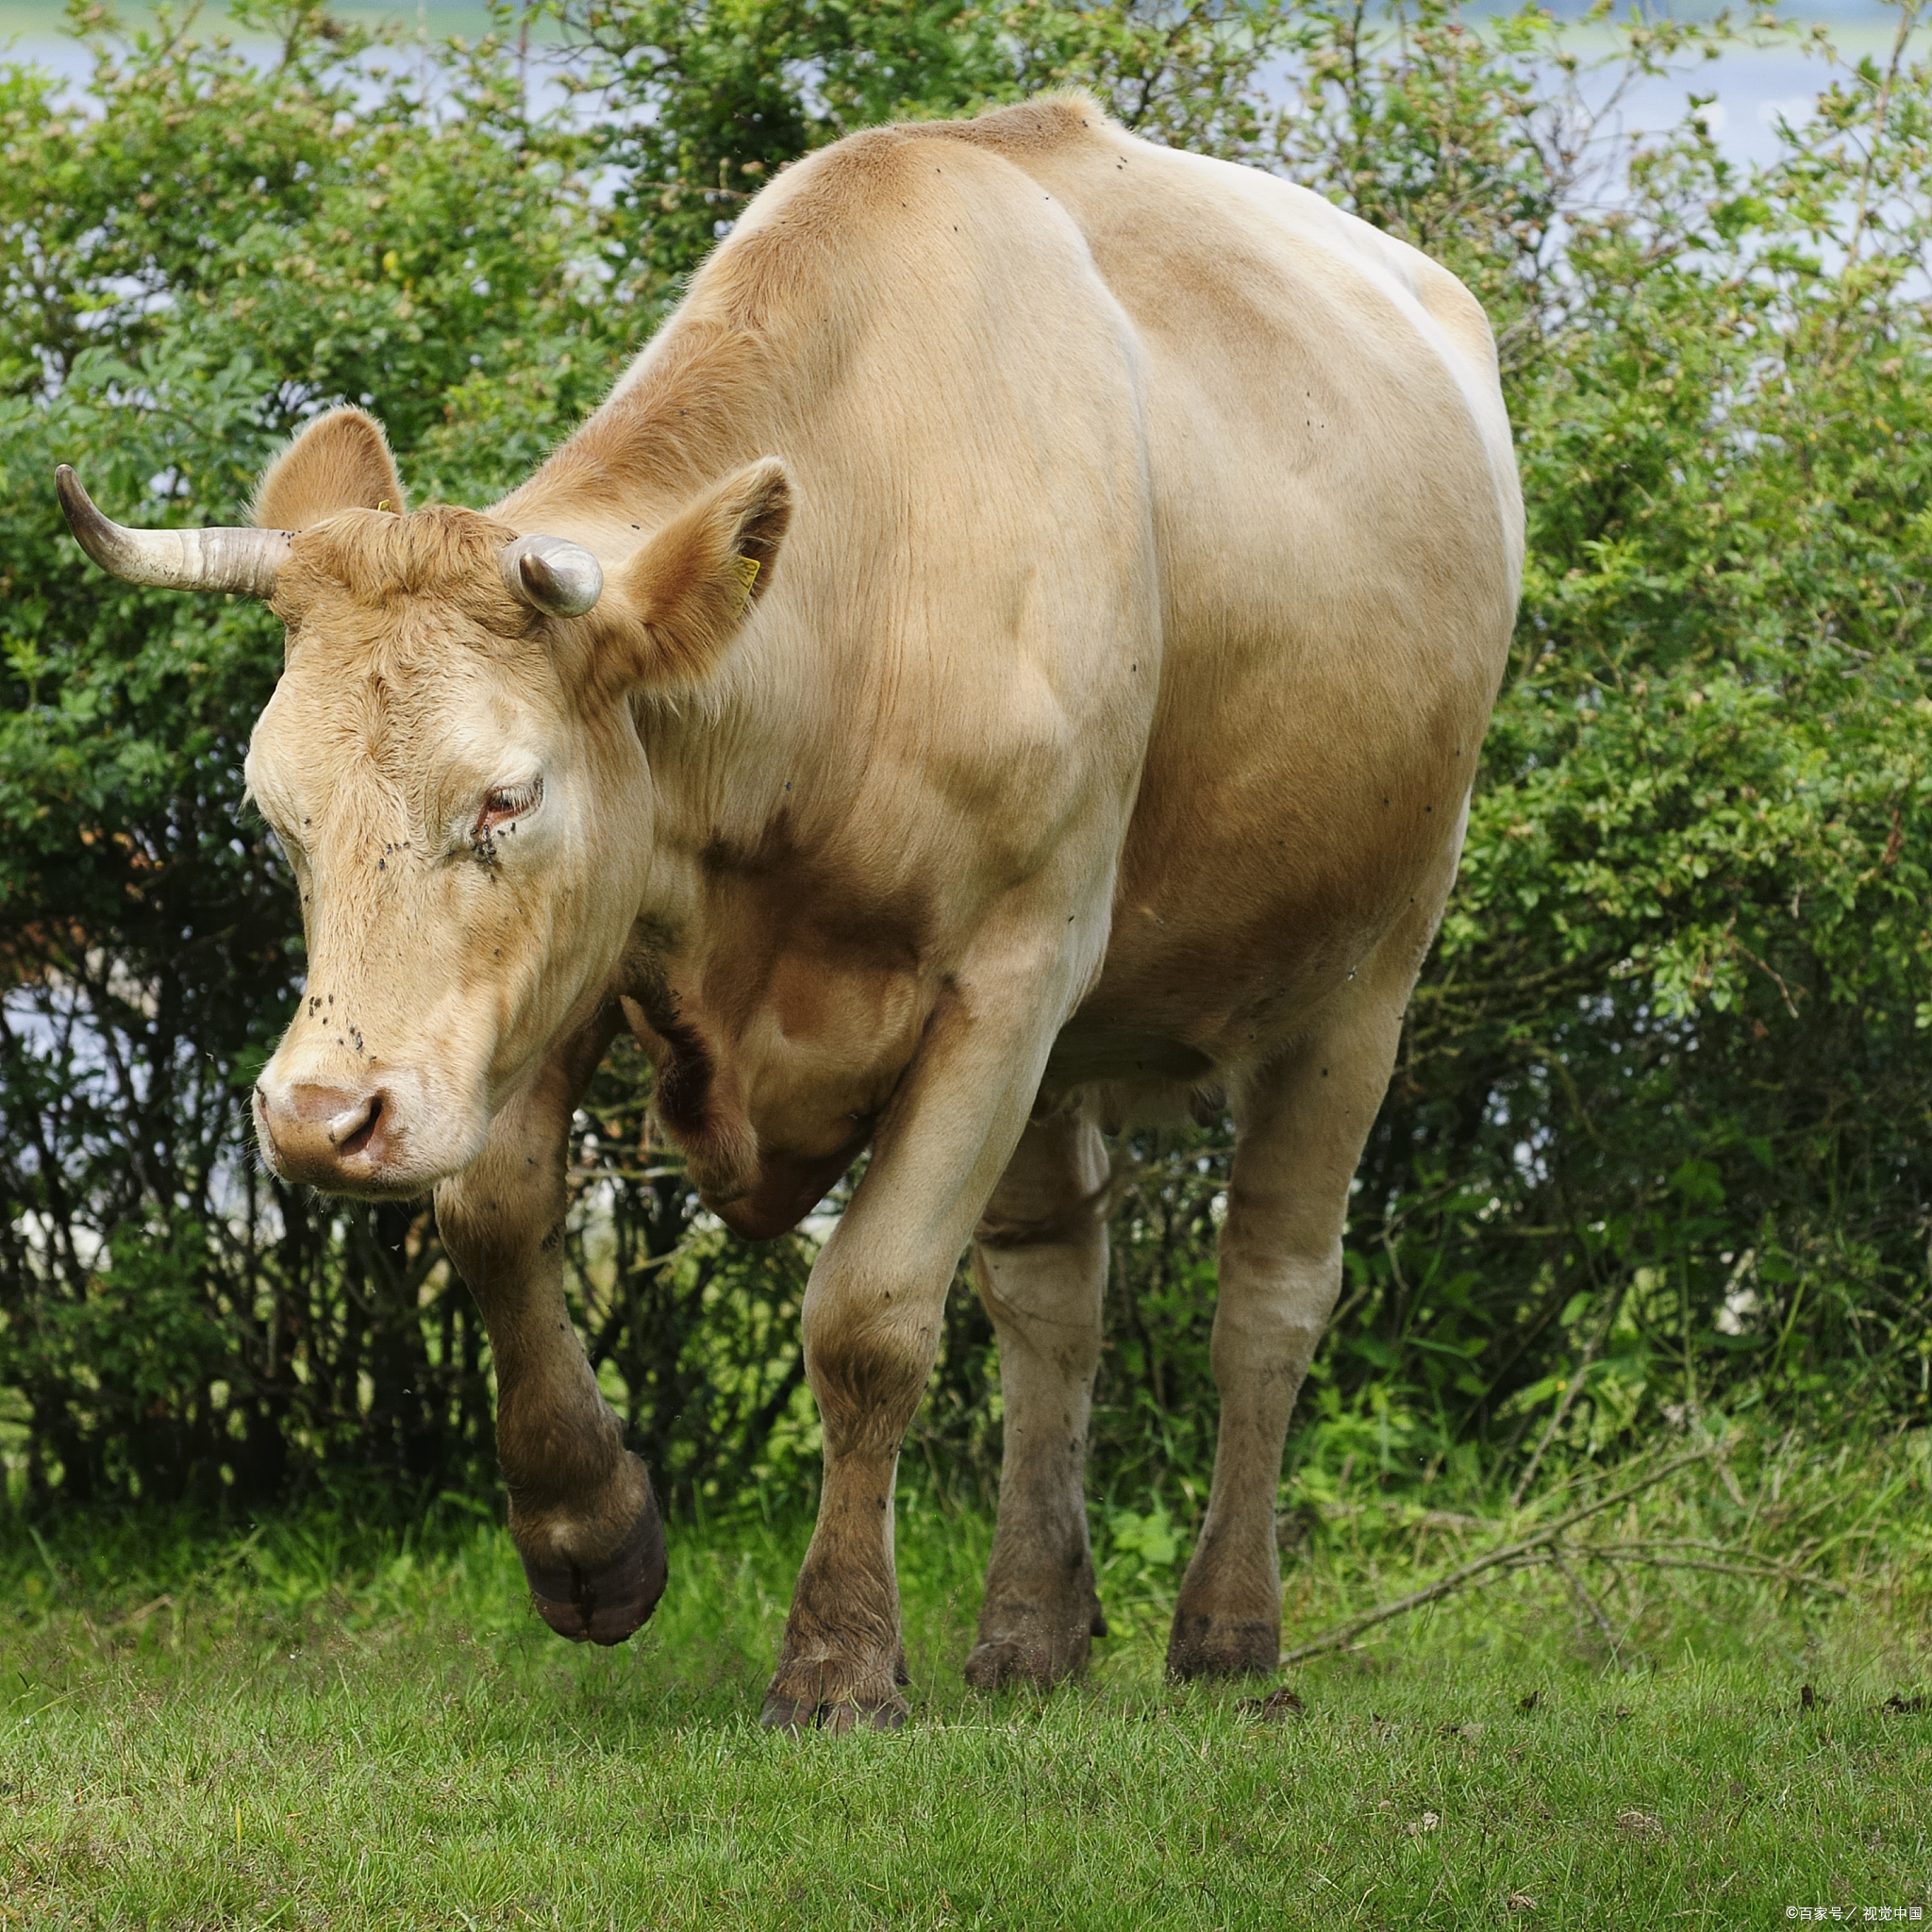
[{"label": "tan cow's body with its neck, excluding head and legs", "polygon": [[614,564],[765,450],[804,506],[703,726],[639,715],[657,952],[707,1122],[763,1153],[728,1219],[817,1202],[1016,895],[1032,943],[1034,900],[1072,925],[1055,1092],[1227,1078],[1347,983],[1453,840],[1501,668],[1490,363],[1412,249],[1074,106],[759,197],[497,512]]}]

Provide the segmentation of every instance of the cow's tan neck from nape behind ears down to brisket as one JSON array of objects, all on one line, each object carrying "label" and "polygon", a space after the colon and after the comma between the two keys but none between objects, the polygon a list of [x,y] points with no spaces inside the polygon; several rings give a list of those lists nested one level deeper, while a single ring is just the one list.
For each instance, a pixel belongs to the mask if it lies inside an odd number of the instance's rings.
[{"label": "cow's tan neck from nape behind ears down to brisket", "polygon": [[[947,964],[933,856],[887,833],[922,821],[920,781],[879,765],[896,742],[877,728],[895,686],[891,587],[867,582],[877,558],[846,554],[852,504],[879,479],[813,429],[837,383],[813,340],[786,330],[775,350],[686,309],[497,510],[609,568],[759,456],[800,485],[771,591],[724,665],[701,692],[636,707],[651,871],[620,970],[626,1016],[659,1068],[667,1130],[746,1233],[794,1225],[866,1144]],[[968,898],[951,900],[964,918]]]}]

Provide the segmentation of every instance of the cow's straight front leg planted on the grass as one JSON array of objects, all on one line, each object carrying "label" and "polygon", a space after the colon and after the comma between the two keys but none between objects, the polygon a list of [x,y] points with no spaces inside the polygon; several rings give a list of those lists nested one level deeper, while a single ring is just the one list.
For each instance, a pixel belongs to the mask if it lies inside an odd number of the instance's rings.
[{"label": "cow's straight front leg planted on the grass", "polygon": [[[813,1264],[806,1374],[825,1430],[825,1482],[765,1696],[771,1727],[906,1721],[893,1569],[898,1445],[931,1374],[960,1250],[1026,1124],[1068,978],[1061,968],[949,997]],[[1012,1012],[1024,1020],[999,1024]]]}]

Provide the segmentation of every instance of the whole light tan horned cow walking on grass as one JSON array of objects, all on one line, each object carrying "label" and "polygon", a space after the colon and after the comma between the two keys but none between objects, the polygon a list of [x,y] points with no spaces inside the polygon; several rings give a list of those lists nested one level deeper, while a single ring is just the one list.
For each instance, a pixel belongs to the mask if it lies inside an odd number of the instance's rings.
[{"label": "whole light tan horned cow walking on grass", "polygon": [[767,1725],[906,1718],[896,1457],[968,1246],[1005,1447],[966,1677],[1084,1667],[1103,1134],[1204,1097],[1236,1126],[1221,1418],[1167,1663],[1275,1669],[1289,1414],[1522,566],[1455,276],[1053,95],[779,174],[489,510],[410,512],[352,408],[251,527],[124,529],[58,483],[106,570],[286,624],[247,784],[307,985],[261,1155],[435,1192],[554,1631],[620,1642],[665,1586],[560,1244],[630,1030],[738,1235],[869,1150],[804,1300],[825,1470]]}]

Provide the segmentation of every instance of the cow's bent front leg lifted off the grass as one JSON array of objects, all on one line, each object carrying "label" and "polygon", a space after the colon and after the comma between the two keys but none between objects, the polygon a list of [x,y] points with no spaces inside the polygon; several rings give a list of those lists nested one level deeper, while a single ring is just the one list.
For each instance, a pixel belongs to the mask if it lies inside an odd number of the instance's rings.
[{"label": "cow's bent front leg lifted off the grass", "polygon": [[597,1389],[564,1306],[570,1117],[614,1026],[558,1047],[437,1188],[437,1225],[497,1360],[497,1451],[510,1536],[543,1621],[620,1644],[665,1592],[665,1526],[643,1463]]}]

